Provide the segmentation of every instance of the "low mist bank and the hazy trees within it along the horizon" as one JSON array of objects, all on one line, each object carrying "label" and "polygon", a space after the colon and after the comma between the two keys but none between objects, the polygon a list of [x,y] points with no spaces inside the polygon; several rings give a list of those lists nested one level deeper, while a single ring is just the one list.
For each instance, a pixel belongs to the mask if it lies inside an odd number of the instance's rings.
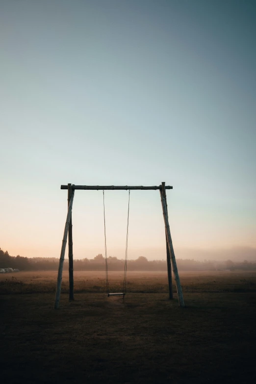
[{"label": "low mist bank and the hazy trees within it along the horizon", "polygon": [[[198,252],[193,253],[188,251],[188,257],[179,257],[177,255],[177,265],[180,271],[254,271],[256,270],[255,250],[229,250],[223,254],[222,258],[206,258],[204,252],[201,258],[197,258]],[[147,255],[147,253],[145,253]],[[242,257],[246,256],[246,257]],[[147,255],[148,256],[148,255]],[[208,256],[208,255],[207,255]],[[211,256],[215,256],[214,253]],[[220,255],[219,255],[220,256]],[[249,257],[247,257],[249,256]],[[107,257],[107,265],[109,271],[123,271],[124,258],[116,256]],[[8,251],[3,251],[0,248],[0,268],[18,268],[21,271],[57,271],[59,266],[58,257],[24,257],[10,256]],[[130,257],[127,260],[128,271],[167,271],[166,257],[162,259],[150,259],[146,256]],[[64,259],[63,269],[68,270],[69,259],[68,255]],[[105,256],[98,254],[94,257],[84,257],[74,259],[75,271],[103,271],[105,269]]]}]

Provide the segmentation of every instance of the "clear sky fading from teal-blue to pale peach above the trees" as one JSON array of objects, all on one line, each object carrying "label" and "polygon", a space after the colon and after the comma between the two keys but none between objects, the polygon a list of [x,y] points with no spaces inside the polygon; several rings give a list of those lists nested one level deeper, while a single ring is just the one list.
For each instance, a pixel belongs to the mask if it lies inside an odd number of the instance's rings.
[{"label": "clear sky fading from teal-blue to pale peach above the trees", "polygon": [[[177,257],[256,259],[255,20],[249,0],[1,0],[1,249],[59,257],[61,184],[165,181]],[[105,204],[123,258],[128,191]],[[102,191],[76,191],[73,242],[103,254]],[[138,256],[165,257],[159,191],[130,193]]]}]

